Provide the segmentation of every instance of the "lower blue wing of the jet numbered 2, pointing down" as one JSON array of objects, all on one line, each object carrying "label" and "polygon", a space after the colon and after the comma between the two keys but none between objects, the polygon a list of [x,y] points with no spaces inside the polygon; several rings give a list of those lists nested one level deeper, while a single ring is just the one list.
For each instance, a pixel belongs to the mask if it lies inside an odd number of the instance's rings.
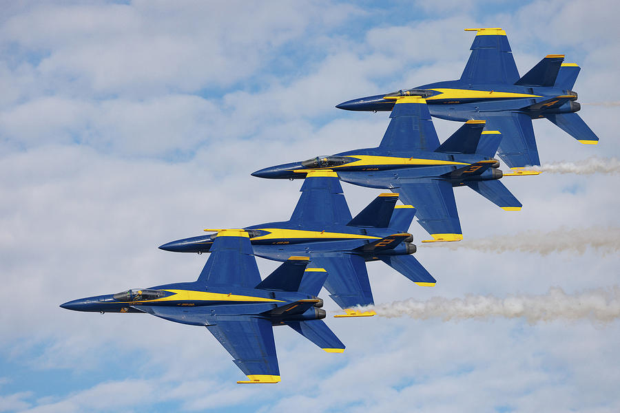
[{"label": "lower blue wing of the jet numbered 2, pointing down", "polygon": [[310,265],[325,268],[324,287],[340,308],[374,304],[366,262],[361,255],[349,253],[311,253]]}]

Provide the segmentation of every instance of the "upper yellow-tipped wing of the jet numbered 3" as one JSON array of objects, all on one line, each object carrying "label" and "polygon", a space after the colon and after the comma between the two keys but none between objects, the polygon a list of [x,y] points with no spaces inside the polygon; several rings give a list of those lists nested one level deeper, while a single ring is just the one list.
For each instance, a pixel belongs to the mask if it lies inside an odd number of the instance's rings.
[{"label": "upper yellow-tipped wing of the jet numbered 3", "polygon": [[379,147],[391,152],[434,151],[439,138],[426,100],[420,96],[395,97],[390,124]]}]

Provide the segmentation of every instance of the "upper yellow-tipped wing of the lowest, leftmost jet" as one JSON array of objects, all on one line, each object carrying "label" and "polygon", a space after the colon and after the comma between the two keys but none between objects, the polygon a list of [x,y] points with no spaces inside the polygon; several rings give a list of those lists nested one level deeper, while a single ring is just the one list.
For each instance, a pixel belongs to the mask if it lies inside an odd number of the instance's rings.
[{"label": "upper yellow-tipped wing of the lowest, leftmost jet", "polygon": [[211,255],[198,277],[209,286],[254,288],[260,283],[260,273],[245,231],[220,231],[211,246]]}]

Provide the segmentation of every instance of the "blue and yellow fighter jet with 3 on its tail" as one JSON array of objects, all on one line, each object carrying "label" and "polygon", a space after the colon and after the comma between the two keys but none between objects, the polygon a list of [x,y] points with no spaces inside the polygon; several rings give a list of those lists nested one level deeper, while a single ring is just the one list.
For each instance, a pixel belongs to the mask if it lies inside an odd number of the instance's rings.
[{"label": "blue and yellow fighter jet with 3 on its tail", "polygon": [[378,147],[278,165],[252,175],[295,179],[309,171],[329,169],[344,182],[390,189],[415,207],[418,222],[433,236],[429,242],[463,238],[453,187],[470,187],[507,211],[521,209],[521,202],[499,182],[504,173],[497,169],[499,161],[493,156],[502,134],[483,131],[484,120],[468,120],[440,145],[420,96],[399,96],[390,117]]}]

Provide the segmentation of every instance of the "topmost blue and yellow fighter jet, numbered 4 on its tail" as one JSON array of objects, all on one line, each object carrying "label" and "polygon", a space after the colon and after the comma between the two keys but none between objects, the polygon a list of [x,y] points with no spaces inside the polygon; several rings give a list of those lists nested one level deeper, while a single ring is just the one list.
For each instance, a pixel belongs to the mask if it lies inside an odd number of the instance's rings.
[{"label": "topmost blue and yellow fighter jet, numbered 4 on its tail", "polygon": [[547,118],[583,144],[599,138],[575,112],[581,106],[572,92],[579,66],[564,63],[564,54],[549,54],[519,76],[508,37],[501,28],[476,31],[465,70],[456,81],[429,83],[414,89],[367,96],[336,107],[358,111],[392,110],[398,96],[422,96],[432,116],[447,120],[486,120],[502,132],[499,157],[511,168],[540,165],[532,120]]}]

